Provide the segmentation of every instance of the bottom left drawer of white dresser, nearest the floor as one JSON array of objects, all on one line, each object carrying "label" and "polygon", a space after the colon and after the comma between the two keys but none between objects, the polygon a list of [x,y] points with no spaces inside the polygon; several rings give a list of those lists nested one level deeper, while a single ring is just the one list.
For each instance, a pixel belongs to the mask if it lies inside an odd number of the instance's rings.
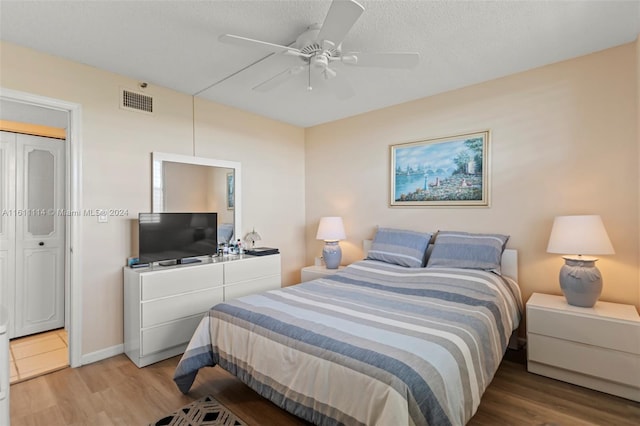
[{"label": "bottom left drawer of white dresser, nearest the floor", "polygon": [[140,356],[147,356],[189,343],[203,314],[142,330]]}]

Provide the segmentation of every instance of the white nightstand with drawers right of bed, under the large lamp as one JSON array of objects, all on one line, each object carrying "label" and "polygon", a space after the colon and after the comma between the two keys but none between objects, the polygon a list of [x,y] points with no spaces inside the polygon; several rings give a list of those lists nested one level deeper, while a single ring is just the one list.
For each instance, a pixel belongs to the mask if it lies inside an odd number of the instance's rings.
[{"label": "white nightstand with drawers right of bed, under the large lamp", "polygon": [[640,401],[640,316],[636,308],[597,302],[571,306],[534,293],[527,302],[528,370]]}]

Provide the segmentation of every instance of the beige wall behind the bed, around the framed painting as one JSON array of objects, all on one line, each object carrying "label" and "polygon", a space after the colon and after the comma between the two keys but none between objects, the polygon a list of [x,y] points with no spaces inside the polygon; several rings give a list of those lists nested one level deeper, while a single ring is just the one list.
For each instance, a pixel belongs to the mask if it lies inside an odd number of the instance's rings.
[{"label": "beige wall behind the bed, around the framed painting", "polygon": [[[616,254],[603,300],[640,306],[635,43],[306,130],[307,263],[321,216],[343,216],[343,262],[376,225],[511,235],[525,300],[560,294],[556,215],[600,214]],[[490,208],[390,208],[389,145],[491,131]],[[313,196],[310,196],[313,194]]]}]

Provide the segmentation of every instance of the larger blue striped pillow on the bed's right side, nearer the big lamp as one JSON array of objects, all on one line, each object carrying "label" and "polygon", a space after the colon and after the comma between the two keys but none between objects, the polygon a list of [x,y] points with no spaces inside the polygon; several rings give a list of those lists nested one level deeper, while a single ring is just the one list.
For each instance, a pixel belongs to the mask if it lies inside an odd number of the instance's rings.
[{"label": "larger blue striped pillow on the bed's right side, nearer the big lamp", "polygon": [[436,235],[427,268],[482,269],[500,274],[508,235],[442,231]]}]

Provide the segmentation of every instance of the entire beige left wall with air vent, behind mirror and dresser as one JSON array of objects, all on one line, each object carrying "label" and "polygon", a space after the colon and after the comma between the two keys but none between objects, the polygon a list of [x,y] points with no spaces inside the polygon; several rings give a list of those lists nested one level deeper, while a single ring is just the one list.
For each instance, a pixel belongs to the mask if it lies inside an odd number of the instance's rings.
[{"label": "entire beige left wall with air vent, behind mirror and dresser", "polygon": [[[131,222],[151,210],[151,152],[194,154],[192,98],[150,85],[153,115],[122,110],[120,88],[135,80],[0,43],[0,87],[82,105],[83,207],[128,209],[100,224],[83,219],[83,337],[89,354],[123,342],[122,266]],[[304,131],[198,100],[195,154],[243,167],[243,233],[255,228],[282,249],[283,281],[304,263]]]}]

